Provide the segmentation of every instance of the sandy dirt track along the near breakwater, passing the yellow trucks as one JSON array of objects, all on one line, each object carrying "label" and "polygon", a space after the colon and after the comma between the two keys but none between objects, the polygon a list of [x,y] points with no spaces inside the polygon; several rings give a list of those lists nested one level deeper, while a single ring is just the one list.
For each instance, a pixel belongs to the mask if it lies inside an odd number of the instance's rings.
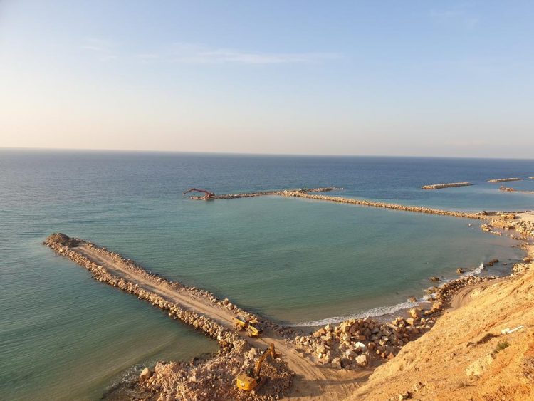
[{"label": "sandy dirt track along the near breakwater, passing the yellow trucks", "polygon": [[[194,296],[189,291],[169,289],[166,286],[157,285],[148,281],[140,274],[129,269],[120,261],[113,260],[105,254],[98,254],[87,244],[75,247],[73,250],[85,256],[90,261],[100,264],[115,275],[125,278],[127,281],[137,284],[147,291],[152,291],[168,301],[179,303],[183,308],[207,316],[221,326],[234,330],[232,319],[235,313],[201,296]],[[274,343],[277,350],[282,353],[283,360],[289,368],[295,372],[293,389],[288,395],[293,400],[342,400],[351,395],[359,387],[359,382],[364,382],[372,370],[333,370],[313,363],[303,357],[284,338],[276,335],[271,330],[264,330],[262,338],[248,338],[240,333],[251,345],[257,348],[267,348]]]}]

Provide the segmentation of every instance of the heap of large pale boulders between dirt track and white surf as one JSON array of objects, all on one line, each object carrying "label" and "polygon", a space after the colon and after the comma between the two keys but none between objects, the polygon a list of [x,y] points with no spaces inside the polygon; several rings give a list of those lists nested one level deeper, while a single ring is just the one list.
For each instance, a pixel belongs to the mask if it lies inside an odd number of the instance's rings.
[{"label": "heap of large pale boulders between dirt track and white surf", "polygon": [[434,324],[422,316],[423,308],[409,310],[409,318],[379,323],[372,318],[344,321],[320,328],[309,336],[295,337],[295,346],[318,363],[337,369],[365,368],[377,358],[391,359],[403,345]]}]

